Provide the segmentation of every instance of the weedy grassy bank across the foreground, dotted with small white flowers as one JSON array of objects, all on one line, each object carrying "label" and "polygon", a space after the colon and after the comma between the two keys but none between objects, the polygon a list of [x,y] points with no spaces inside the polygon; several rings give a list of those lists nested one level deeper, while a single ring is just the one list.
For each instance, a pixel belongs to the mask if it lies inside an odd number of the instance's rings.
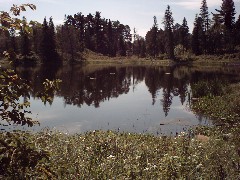
[{"label": "weedy grassy bank across the foreground, dotted with small white flowers", "polygon": [[[1,134],[1,142],[9,139],[9,146],[13,148],[8,150],[8,154],[1,155],[1,173],[4,174],[2,178],[239,177],[238,149],[232,139],[225,140],[224,136],[219,134],[212,134],[206,142],[187,134],[171,138],[111,131],[89,132],[84,135],[66,135],[50,131]],[[21,149],[16,148],[17,144]],[[7,150],[1,147],[1,151]]]}]

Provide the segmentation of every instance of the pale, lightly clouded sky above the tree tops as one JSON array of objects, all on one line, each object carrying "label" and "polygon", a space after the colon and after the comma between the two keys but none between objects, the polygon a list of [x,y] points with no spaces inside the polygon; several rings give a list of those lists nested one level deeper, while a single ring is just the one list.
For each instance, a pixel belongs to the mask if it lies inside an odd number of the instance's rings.
[{"label": "pale, lightly clouded sky above the tree tops", "polygon": [[[163,17],[167,5],[170,5],[174,23],[182,24],[186,17],[190,31],[193,28],[195,15],[200,12],[202,0],[0,0],[0,11],[9,11],[13,4],[31,3],[37,6],[36,11],[21,14],[27,20],[43,22],[44,17],[53,18],[54,24],[62,24],[65,15],[82,12],[84,15],[101,12],[101,17],[120,21],[133,28],[145,37],[153,25],[153,16],[157,17],[159,28],[163,28]],[[240,13],[240,0],[234,0],[236,19]],[[207,0],[209,12],[220,9],[222,0]]]}]

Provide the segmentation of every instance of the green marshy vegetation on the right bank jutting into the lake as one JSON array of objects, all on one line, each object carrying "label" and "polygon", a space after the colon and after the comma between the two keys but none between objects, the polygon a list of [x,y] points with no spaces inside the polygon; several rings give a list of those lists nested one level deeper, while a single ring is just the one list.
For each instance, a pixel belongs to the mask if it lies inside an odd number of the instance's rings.
[{"label": "green marshy vegetation on the right bank jutting into the lake", "polygon": [[200,99],[192,103],[191,109],[194,112],[216,120],[214,121],[216,123],[239,123],[239,85],[224,87],[220,84],[216,89],[220,93],[213,94],[212,96],[209,96],[208,90],[204,91],[203,88],[198,89],[198,86],[201,85],[197,85],[193,89],[197,87],[195,91],[201,91],[202,94]]}]

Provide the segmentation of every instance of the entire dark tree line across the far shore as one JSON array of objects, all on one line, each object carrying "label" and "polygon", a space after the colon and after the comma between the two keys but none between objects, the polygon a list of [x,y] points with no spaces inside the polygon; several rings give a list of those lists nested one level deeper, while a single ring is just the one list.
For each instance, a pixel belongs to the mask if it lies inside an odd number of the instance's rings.
[{"label": "entire dark tree line across the far shore", "polygon": [[70,62],[82,59],[85,49],[109,57],[130,56],[157,58],[167,56],[176,59],[178,55],[193,53],[223,54],[233,53],[240,45],[240,16],[235,21],[233,0],[222,0],[220,9],[208,11],[207,1],[202,0],[200,12],[196,15],[192,33],[186,18],[181,24],[174,24],[170,6],[167,6],[162,21],[164,28],[158,27],[156,16],[145,38],[133,33],[129,25],[111,21],[95,14],[65,15],[62,25],[54,26],[53,19],[44,18],[43,23],[27,22],[22,19],[20,31],[15,28],[0,32],[0,50],[8,50],[11,59],[20,54],[22,58],[37,55],[43,62],[60,62],[64,57]]}]

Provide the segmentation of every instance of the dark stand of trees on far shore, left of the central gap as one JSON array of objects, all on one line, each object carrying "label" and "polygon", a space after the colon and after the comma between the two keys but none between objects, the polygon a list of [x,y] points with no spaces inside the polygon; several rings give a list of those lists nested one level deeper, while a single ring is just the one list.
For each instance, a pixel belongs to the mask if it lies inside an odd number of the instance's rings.
[{"label": "dark stand of trees on far shore, left of the central gap", "polygon": [[111,21],[95,15],[82,13],[65,15],[63,25],[54,26],[53,19],[44,18],[43,23],[22,19],[20,32],[14,28],[0,32],[1,51],[7,50],[15,59],[16,54],[24,58],[33,53],[43,62],[59,60],[59,56],[70,60],[81,58],[84,49],[110,57],[126,56],[131,50],[131,29],[119,21]]}]

